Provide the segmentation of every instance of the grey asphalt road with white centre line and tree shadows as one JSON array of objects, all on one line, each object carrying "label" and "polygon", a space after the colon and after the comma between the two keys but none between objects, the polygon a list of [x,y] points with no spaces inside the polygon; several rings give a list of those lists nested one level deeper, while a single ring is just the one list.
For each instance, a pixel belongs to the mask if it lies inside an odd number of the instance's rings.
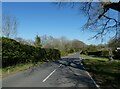
[{"label": "grey asphalt road with white centre line and tree shadows", "polygon": [[4,78],[2,87],[85,87],[97,89],[79,53]]}]

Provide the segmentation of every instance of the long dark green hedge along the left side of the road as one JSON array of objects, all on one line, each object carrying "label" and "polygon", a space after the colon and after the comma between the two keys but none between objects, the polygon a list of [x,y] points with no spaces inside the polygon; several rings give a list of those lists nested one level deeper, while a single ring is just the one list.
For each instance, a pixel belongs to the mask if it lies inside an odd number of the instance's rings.
[{"label": "long dark green hedge along the left side of the road", "polygon": [[60,51],[57,49],[36,48],[2,37],[2,67],[56,59],[60,59]]}]

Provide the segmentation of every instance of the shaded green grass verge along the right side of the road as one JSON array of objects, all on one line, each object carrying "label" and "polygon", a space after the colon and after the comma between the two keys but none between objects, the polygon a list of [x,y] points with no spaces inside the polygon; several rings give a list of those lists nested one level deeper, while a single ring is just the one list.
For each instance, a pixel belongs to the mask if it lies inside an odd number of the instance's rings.
[{"label": "shaded green grass verge along the right side of the road", "polygon": [[120,60],[81,55],[86,70],[101,89],[120,89]]}]

